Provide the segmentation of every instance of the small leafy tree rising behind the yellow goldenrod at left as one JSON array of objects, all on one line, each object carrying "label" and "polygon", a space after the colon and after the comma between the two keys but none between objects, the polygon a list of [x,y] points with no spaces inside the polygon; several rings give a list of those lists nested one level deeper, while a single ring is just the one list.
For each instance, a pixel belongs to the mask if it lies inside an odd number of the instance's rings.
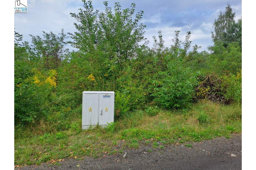
[{"label": "small leafy tree rising behind the yellow goldenrod at left", "polygon": [[65,48],[67,36],[64,34],[63,29],[58,34],[59,36],[53,32],[46,33],[43,31],[43,33],[43,38],[30,35],[34,53],[42,58],[43,67],[46,70],[57,69],[63,56],[69,51],[69,49]]}]

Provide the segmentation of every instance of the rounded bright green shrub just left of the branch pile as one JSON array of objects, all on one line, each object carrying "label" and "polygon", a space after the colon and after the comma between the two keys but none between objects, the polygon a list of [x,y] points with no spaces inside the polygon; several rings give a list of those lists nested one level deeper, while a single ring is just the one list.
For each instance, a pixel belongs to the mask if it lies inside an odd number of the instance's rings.
[{"label": "rounded bright green shrub just left of the branch pile", "polygon": [[190,105],[194,87],[197,85],[197,74],[190,68],[185,68],[182,57],[173,59],[166,55],[167,71],[159,72],[159,79],[152,80],[150,87],[154,90],[154,101],[159,102],[164,108],[179,108]]}]

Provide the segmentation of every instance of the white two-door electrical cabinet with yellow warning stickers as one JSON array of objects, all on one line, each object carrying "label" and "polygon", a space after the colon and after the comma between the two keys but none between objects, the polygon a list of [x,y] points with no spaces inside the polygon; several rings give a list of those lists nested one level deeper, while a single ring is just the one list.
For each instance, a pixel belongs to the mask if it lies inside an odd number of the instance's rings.
[{"label": "white two-door electrical cabinet with yellow warning stickers", "polygon": [[82,100],[82,129],[114,122],[115,92],[84,91]]}]

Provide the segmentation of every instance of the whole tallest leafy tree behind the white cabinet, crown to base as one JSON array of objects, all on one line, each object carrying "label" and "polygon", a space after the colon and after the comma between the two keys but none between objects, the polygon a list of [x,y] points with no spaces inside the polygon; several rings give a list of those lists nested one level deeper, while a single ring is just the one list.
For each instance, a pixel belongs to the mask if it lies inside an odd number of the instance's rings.
[{"label": "whole tallest leafy tree behind the white cabinet, crown to base", "polygon": [[140,23],[143,11],[135,13],[135,4],[123,10],[119,3],[115,3],[113,10],[108,2],[103,4],[105,10],[99,12],[91,1],[84,0],[78,14],[71,13],[77,20],[74,23],[77,31],[68,33],[73,39],[69,43],[79,50],[63,61],[57,89],[65,90],[67,100],[75,103],[80,98],[72,98],[69,91],[79,96],[82,90],[119,91],[125,98],[131,95],[129,105],[134,106],[131,109],[137,108],[138,103],[145,101],[139,77],[148,50],[144,38],[146,26]]}]

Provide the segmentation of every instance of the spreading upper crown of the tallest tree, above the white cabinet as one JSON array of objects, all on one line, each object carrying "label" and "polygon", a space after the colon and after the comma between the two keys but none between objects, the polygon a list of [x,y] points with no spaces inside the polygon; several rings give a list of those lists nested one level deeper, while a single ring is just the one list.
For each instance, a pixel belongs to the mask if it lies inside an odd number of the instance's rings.
[{"label": "spreading upper crown of the tallest tree, above the white cabinet", "polygon": [[94,10],[91,1],[83,0],[83,3],[84,9],[80,8],[78,14],[70,13],[78,21],[74,23],[77,32],[69,33],[73,39],[71,45],[84,54],[90,53],[87,60],[98,63],[103,75],[109,69],[105,67],[107,64],[116,64],[122,70],[125,62],[136,57],[139,43],[145,40],[146,26],[139,24],[143,11],[138,12],[133,19],[134,3],[131,9],[124,10],[121,10],[119,3],[115,3],[112,11],[105,1],[105,11],[101,13]]}]

